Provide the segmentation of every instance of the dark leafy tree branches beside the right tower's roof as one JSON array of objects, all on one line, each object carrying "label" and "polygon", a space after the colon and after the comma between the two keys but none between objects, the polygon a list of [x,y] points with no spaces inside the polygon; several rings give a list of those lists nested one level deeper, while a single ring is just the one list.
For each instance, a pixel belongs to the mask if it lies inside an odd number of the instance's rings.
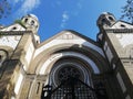
[{"label": "dark leafy tree branches beside the right tower's roof", "polygon": [[121,19],[125,19],[133,24],[133,0],[127,0],[126,4],[122,8]]}]

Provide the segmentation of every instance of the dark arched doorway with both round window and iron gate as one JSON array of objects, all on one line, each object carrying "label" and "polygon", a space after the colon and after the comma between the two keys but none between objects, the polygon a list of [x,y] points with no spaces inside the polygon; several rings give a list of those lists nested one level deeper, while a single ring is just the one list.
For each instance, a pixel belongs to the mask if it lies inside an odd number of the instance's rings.
[{"label": "dark arched doorway with both round window and iron gate", "polygon": [[52,66],[41,99],[108,99],[100,82],[99,88],[94,88],[93,74],[90,64],[83,59],[72,57],[72,54],[62,57]]}]

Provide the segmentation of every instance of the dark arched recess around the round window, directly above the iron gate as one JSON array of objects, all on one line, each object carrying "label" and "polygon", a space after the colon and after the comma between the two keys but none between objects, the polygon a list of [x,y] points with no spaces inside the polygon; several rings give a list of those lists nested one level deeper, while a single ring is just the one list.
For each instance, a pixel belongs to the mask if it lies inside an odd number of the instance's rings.
[{"label": "dark arched recess around the round window, directly above the iron gate", "polygon": [[48,84],[58,87],[69,77],[74,77],[93,86],[91,81],[91,72],[86,66],[88,65],[82,59],[76,57],[68,56],[60,58],[51,68]]}]

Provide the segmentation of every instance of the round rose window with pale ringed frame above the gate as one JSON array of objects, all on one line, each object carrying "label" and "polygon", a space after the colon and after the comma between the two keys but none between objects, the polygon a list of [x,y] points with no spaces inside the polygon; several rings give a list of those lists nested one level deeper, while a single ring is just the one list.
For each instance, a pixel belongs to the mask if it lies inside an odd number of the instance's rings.
[{"label": "round rose window with pale ringed frame above the gate", "polygon": [[88,70],[81,64],[75,62],[61,62],[52,68],[49,84],[58,86],[71,77],[85,81],[86,84],[89,81]]}]

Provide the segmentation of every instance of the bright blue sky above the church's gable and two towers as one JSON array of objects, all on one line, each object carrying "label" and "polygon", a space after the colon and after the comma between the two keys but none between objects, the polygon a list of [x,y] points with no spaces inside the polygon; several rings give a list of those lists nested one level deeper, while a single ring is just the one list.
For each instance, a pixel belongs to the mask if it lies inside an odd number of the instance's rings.
[{"label": "bright blue sky above the church's gable and two towers", "polygon": [[0,19],[9,25],[16,19],[33,13],[40,22],[39,35],[44,41],[62,30],[74,30],[96,40],[96,19],[102,12],[111,12],[120,19],[126,0],[8,0],[11,14]]}]

